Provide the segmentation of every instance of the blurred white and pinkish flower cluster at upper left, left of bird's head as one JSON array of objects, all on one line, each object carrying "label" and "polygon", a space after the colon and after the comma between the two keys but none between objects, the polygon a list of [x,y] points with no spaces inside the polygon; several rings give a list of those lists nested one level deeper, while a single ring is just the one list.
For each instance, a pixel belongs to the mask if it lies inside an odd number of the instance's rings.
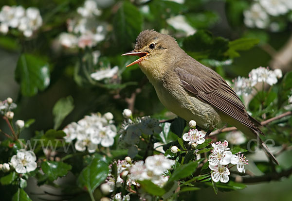
[{"label": "blurred white and pinkish flower cluster at upper left, left of bird's head", "polygon": [[96,21],[102,14],[94,0],[86,0],[83,7],[77,8],[78,17],[68,19],[67,31],[58,37],[59,43],[65,48],[81,48],[96,46],[105,39],[107,33],[105,23]]}]

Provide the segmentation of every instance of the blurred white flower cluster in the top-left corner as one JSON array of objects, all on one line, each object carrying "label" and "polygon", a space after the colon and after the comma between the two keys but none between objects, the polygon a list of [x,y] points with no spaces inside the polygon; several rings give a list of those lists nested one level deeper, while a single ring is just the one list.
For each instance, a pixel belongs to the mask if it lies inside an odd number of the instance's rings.
[{"label": "blurred white flower cluster in the top-left corner", "polygon": [[42,25],[38,8],[22,6],[3,6],[0,11],[0,32],[8,33],[9,28],[17,28],[25,37],[31,37]]}]

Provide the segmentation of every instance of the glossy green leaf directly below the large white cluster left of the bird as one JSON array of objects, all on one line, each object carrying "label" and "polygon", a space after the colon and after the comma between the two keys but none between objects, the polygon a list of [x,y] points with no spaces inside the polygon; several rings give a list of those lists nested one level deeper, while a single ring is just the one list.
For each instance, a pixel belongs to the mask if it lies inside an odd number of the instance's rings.
[{"label": "glossy green leaf directly below the large white cluster left of the bird", "polygon": [[84,168],[78,179],[77,184],[81,188],[86,188],[90,193],[93,193],[95,188],[102,184],[109,173],[109,165],[104,161],[94,158],[91,163]]}]

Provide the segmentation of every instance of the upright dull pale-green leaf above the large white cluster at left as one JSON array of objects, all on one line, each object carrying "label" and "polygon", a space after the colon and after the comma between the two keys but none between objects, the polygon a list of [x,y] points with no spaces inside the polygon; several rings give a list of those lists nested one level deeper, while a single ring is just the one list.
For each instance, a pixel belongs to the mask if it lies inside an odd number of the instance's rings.
[{"label": "upright dull pale-green leaf above the large white cluster at left", "polygon": [[54,129],[56,130],[62,124],[63,120],[69,115],[74,108],[72,96],[61,98],[57,101],[53,108]]}]

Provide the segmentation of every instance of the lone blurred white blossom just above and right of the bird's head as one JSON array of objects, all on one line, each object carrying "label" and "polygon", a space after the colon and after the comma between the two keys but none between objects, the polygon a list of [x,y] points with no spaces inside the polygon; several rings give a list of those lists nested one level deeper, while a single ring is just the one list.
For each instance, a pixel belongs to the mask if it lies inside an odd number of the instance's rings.
[{"label": "lone blurred white blossom just above and right of the bird's head", "polygon": [[187,23],[185,17],[182,15],[170,17],[166,19],[166,22],[176,30],[183,31],[184,33],[186,33],[187,36],[196,33],[196,30]]}]

